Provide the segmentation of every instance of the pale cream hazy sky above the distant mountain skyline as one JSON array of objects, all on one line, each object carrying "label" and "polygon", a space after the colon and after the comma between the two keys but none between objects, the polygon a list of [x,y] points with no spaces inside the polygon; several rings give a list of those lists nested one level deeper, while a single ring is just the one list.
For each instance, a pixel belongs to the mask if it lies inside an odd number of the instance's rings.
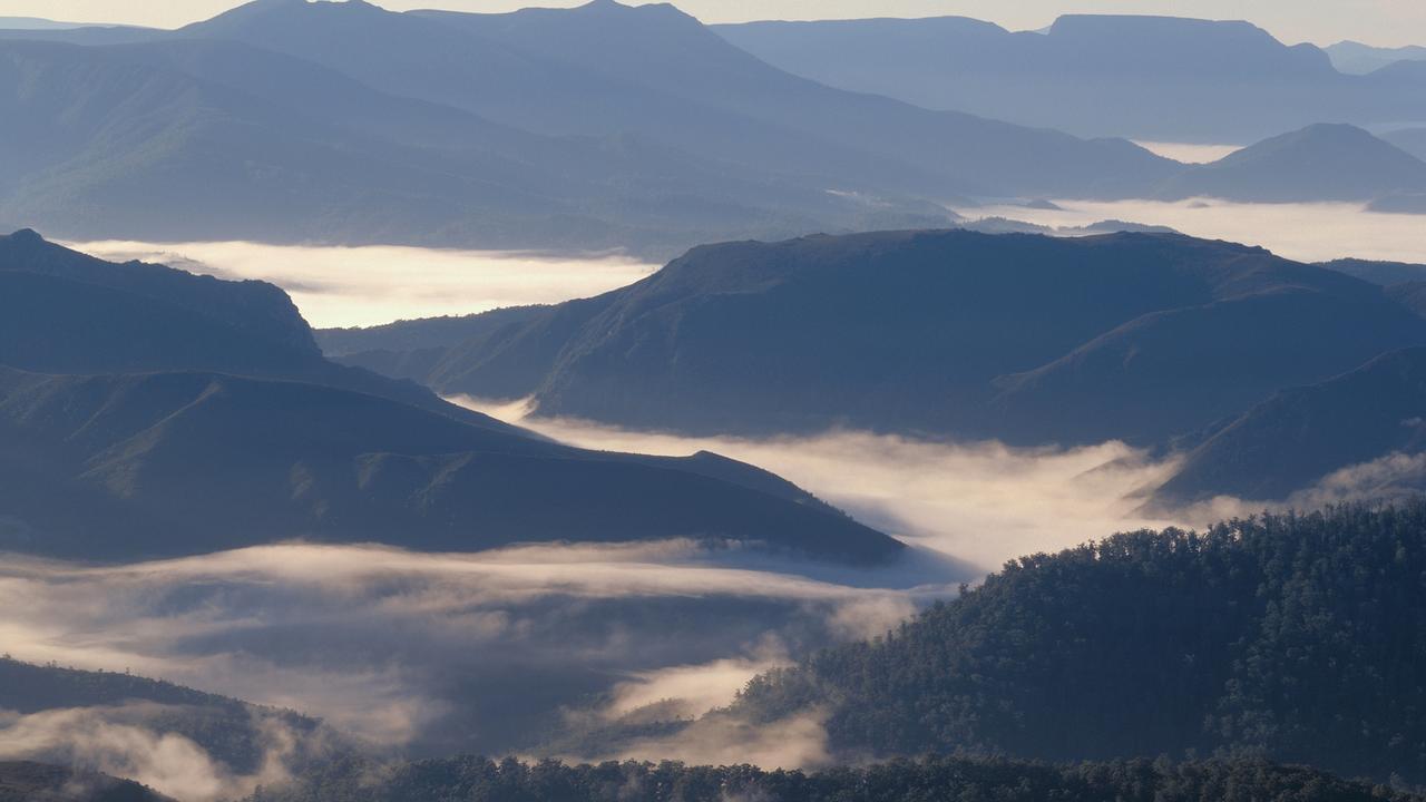
[{"label": "pale cream hazy sky above the distant mountain skyline", "polygon": [[[392,10],[506,11],[578,6],[582,0],[385,0]],[[210,17],[235,0],[0,0],[0,16],[120,21],[173,27]],[[1174,14],[1251,20],[1288,43],[1426,44],[1426,0],[682,0],[703,21],[964,14],[1010,29],[1038,29],[1064,13]]]}]

